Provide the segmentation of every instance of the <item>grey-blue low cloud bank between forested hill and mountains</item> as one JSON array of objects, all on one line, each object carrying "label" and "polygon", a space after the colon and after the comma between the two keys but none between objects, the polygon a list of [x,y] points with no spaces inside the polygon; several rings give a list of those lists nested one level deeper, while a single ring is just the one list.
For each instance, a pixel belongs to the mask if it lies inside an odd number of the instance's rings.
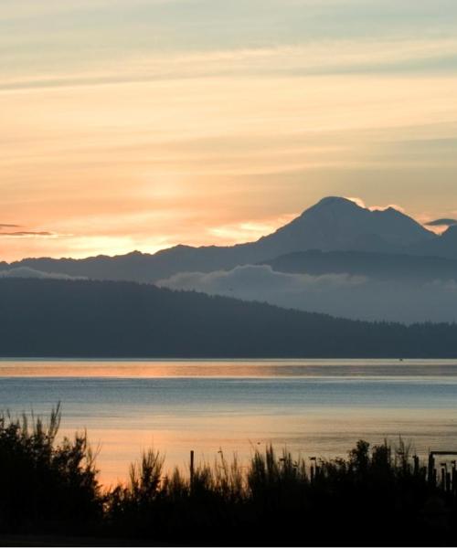
[{"label": "grey-blue low cloud bank between forested hill and mountains", "polygon": [[457,282],[408,283],[348,274],[289,274],[269,266],[186,272],[157,285],[367,321],[457,321]]}]

